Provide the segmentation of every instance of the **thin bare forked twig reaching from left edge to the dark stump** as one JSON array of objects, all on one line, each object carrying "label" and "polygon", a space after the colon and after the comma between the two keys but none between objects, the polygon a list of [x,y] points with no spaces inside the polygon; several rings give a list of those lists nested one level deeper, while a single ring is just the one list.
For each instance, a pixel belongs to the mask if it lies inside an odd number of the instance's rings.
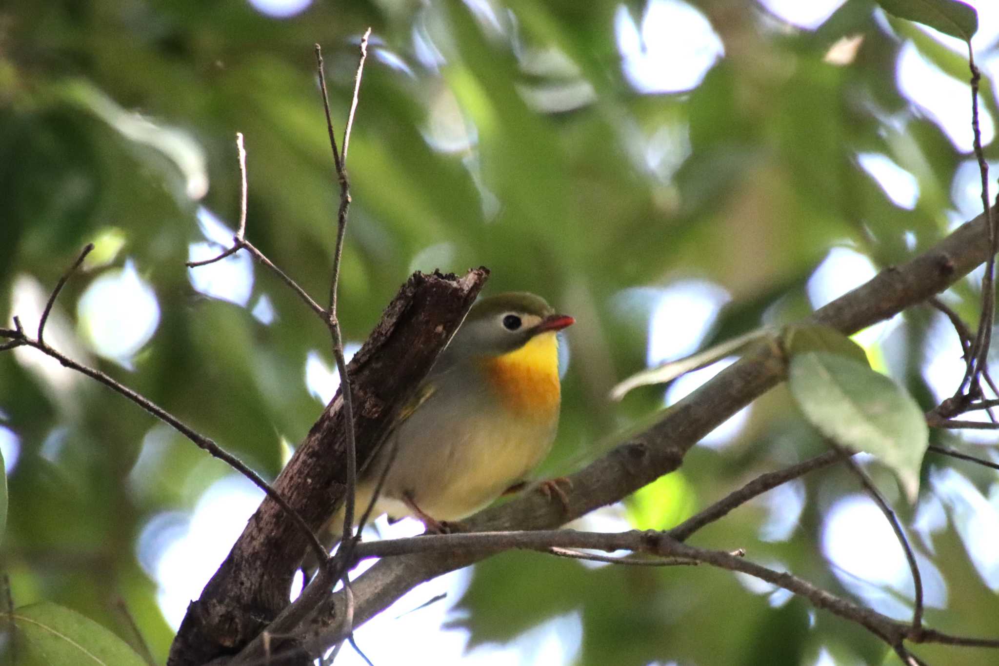
[{"label": "thin bare forked twig reaching from left edge to the dark stump", "polygon": [[[49,296],[48,305],[46,306],[46,312],[52,310],[52,306],[55,304],[55,297],[59,295],[59,292],[62,290],[62,286],[65,285],[69,277],[80,266],[80,264],[83,262],[83,259],[87,256],[87,254],[89,254],[90,251],[93,249],[94,249],[93,244],[90,244],[87,247],[85,247],[83,249],[83,252],[80,253],[80,256],[77,258],[76,262],[73,263],[73,266],[71,266],[70,269],[63,276],[63,278],[60,279],[59,284],[56,286],[56,289],[53,290],[52,295]],[[142,407],[152,415],[156,416],[164,423],[167,423],[175,430],[183,434],[185,437],[193,441],[199,448],[208,451],[209,454],[219,458],[220,460],[223,460],[224,462],[228,463],[229,466],[231,466],[233,469],[235,469],[236,471],[240,472],[241,474],[249,478],[251,481],[253,481],[254,485],[256,485],[258,488],[267,493],[267,495],[270,496],[272,499],[274,499],[274,501],[277,502],[288,513],[292,521],[296,525],[298,525],[300,529],[302,529],[303,533],[306,535],[307,539],[309,540],[309,543],[311,544],[313,549],[316,550],[317,556],[322,556],[320,561],[323,561],[327,557],[326,549],[323,547],[323,544],[320,543],[319,538],[316,536],[316,533],[313,532],[311,529],[309,529],[309,526],[306,524],[305,520],[303,520],[302,516],[299,515],[297,511],[295,511],[291,506],[288,505],[288,502],[285,501],[284,497],[282,497],[273,487],[271,487],[271,484],[269,484],[267,481],[261,478],[261,476],[257,472],[248,467],[242,460],[237,458],[232,453],[229,453],[221,446],[219,446],[217,443],[215,443],[215,441],[213,441],[211,438],[206,437],[205,435],[196,431],[194,428],[190,427],[189,425],[181,421],[178,417],[174,416],[172,413],[170,413],[163,407],[154,403],[149,398],[136,392],[135,390],[129,388],[128,386],[120,383],[119,381],[113,379],[108,374],[105,374],[101,370],[95,369],[93,367],[84,365],[82,363],[73,360],[69,356],[53,348],[52,346],[50,346],[41,339],[32,339],[31,337],[26,336],[24,334],[24,330],[21,327],[20,320],[18,320],[16,317],[14,318],[14,323],[17,328],[17,331],[20,332],[22,335],[21,338],[19,339],[19,341],[22,344],[34,347],[39,351],[41,351],[42,353],[51,356],[52,358],[55,358],[60,363],[62,363],[64,367],[69,367],[70,369],[74,369],[77,372],[86,374],[90,378],[95,379],[100,383],[103,383],[105,386],[111,388],[120,395],[124,395],[132,402],[138,404],[140,407]],[[42,333],[42,330],[44,329],[42,324],[44,324],[44,316],[42,322],[39,324],[39,333]]]}]

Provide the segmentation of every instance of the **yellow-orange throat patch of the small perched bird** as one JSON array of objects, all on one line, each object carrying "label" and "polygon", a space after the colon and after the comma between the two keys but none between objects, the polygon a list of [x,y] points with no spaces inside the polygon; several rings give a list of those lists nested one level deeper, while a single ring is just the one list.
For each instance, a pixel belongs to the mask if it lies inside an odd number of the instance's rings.
[{"label": "yellow-orange throat patch of the small perched bird", "polygon": [[518,349],[488,359],[486,376],[504,405],[520,416],[551,418],[558,413],[558,338],[539,333]]}]

